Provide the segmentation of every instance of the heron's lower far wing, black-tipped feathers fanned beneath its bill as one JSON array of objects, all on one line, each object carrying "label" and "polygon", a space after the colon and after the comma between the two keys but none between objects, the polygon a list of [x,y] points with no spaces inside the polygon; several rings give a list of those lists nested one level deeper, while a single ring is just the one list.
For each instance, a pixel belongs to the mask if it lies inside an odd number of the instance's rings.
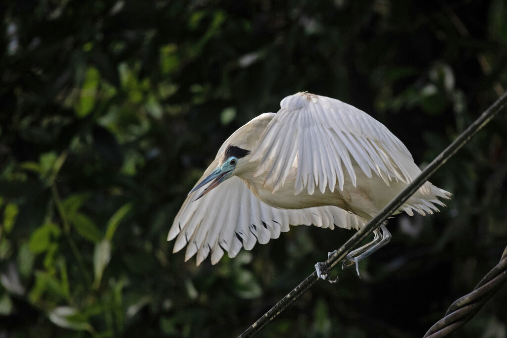
[{"label": "heron's lower far wing, black-tipped feathers fanned beneath its bill", "polygon": [[[213,161],[203,178],[220,161]],[[201,190],[204,189],[201,188]],[[173,252],[187,245],[185,260],[197,254],[199,265],[209,254],[215,264],[227,251],[234,257],[241,247],[251,250],[287,232],[289,225],[314,224],[320,228],[358,229],[365,220],[338,207],[324,206],[300,210],[273,208],[259,200],[238,177],[225,180],[203,198],[192,201],[202,191],[188,196],[176,215],[168,240],[176,238]]]}]

